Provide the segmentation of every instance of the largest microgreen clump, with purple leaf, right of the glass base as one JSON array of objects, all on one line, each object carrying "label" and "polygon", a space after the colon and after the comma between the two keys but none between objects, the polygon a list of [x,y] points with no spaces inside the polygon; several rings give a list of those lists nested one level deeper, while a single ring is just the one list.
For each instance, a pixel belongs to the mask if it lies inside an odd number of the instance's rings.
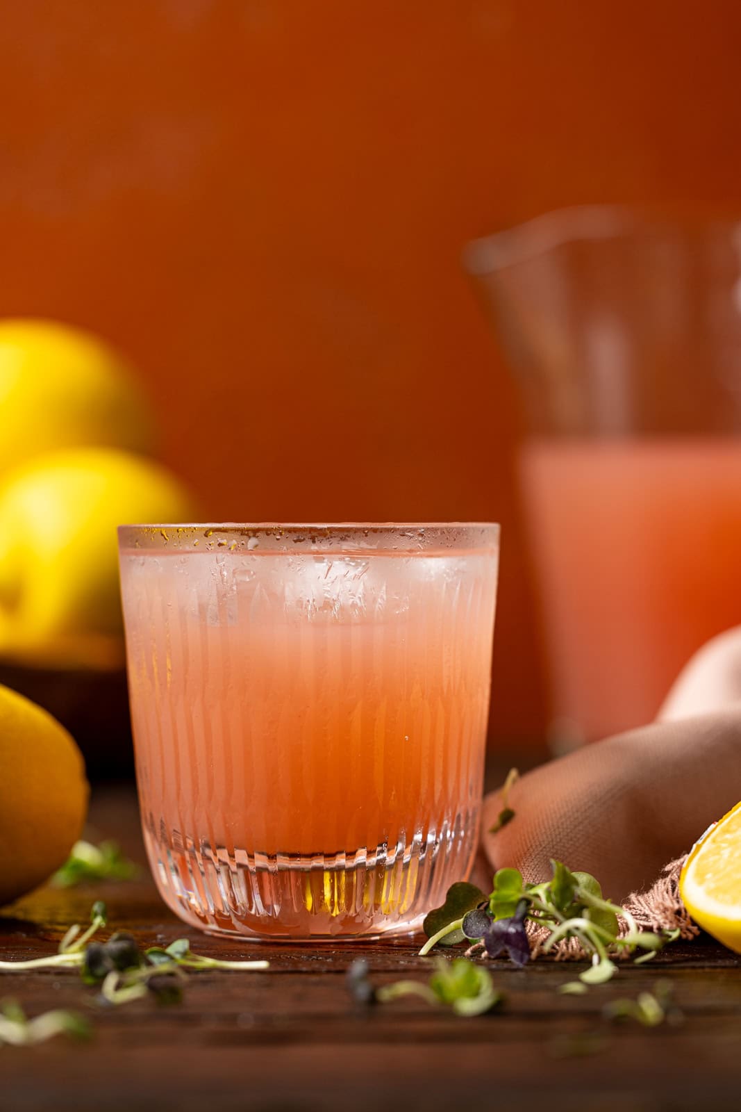
[{"label": "largest microgreen clump, with purple leaf, right of the glass base", "polygon": [[591,959],[579,980],[595,985],[615,973],[612,957],[640,951],[634,960],[645,962],[678,937],[675,931],[657,934],[639,930],[629,911],[603,898],[599,882],[590,873],[572,872],[559,861],[552,861],[551,866],[550,881],[540,884],[525,884],[517,868],[500,868],[488,897],[473,885],[465,885],[473,888],[465,893],[468,911],[462,911],[463,901],[454,892],[461,885],[453,885],[443,906],[424,920],[428,941],[420,954],[430,953],[438,943],[450,939],[457,942],[462,935],[475,944],[473,950],[489,957],[507,953],[521,966],[531,957],[525,931],[529,923],[540,929],[539,952],[549,953],[575,940],[579,950]]}]

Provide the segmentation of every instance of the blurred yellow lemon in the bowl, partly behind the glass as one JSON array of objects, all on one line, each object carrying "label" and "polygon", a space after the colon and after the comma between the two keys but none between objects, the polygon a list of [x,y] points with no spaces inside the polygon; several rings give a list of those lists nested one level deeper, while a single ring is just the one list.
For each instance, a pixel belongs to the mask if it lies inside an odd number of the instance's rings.
[{"label": "blurred yellow lemon in the bowl, partly behind the glass", "polygon": [[0,481],[0,656],[118,665],[116,527],[196,517],[180,479],[126,451],[51,453],[9,473]]}]

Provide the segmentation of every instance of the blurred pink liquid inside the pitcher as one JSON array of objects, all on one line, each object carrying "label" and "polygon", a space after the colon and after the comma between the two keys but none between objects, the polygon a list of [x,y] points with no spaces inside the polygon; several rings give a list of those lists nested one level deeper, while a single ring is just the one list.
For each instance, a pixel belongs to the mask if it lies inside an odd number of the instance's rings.
[{"label": "blurred pink liquid inside the pitcher", "polygon": [[554,736],[650,721],[692,653],[741,623],[741,441],[537,439],[521,477]]}]

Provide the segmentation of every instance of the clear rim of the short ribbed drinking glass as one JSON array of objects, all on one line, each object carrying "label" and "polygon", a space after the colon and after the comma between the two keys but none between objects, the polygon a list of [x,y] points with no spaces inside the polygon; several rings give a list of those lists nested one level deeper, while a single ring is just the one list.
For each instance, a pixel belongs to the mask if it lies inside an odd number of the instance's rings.
[{"label": "clear rim of the short ribbed drinking glass", "polygon": [[[495,522],[188,522],[119,525],[121,552],[341,552],[424,554],[497,549]],[[303,546],[303,547],[302,547]]]}]

